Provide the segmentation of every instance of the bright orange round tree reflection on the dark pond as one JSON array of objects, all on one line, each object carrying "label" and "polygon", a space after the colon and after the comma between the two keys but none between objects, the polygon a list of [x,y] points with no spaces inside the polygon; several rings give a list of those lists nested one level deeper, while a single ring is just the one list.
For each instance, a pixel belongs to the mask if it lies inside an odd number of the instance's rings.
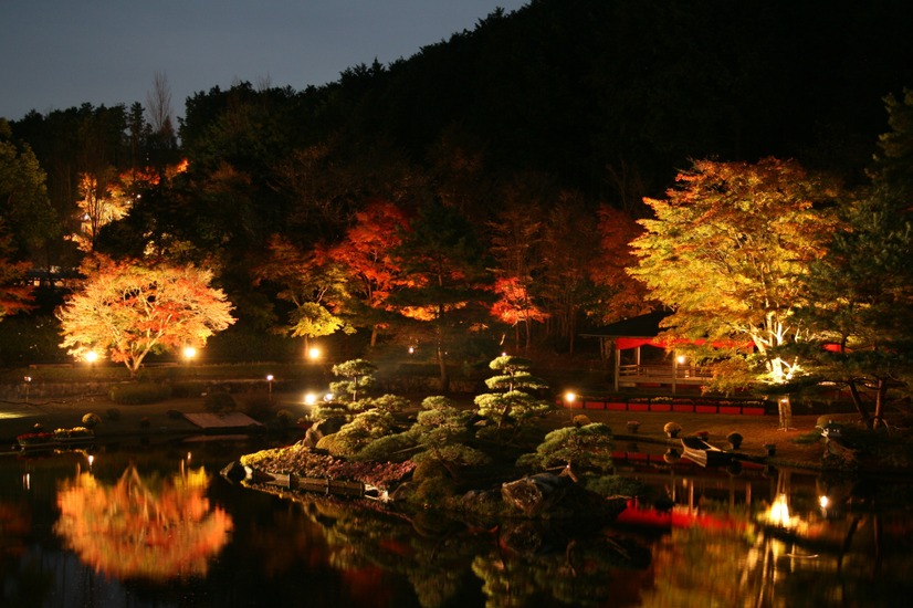
[{"label": "bright orange round tree reflection on the dark pond", "polygon": [[129,467],[114,485],[91,472],[61,483],[54,526],[80,559],[120,580],[206,575],[228,543],[232,521],[206,497],[200,469],[170,478],[143,478]]}]

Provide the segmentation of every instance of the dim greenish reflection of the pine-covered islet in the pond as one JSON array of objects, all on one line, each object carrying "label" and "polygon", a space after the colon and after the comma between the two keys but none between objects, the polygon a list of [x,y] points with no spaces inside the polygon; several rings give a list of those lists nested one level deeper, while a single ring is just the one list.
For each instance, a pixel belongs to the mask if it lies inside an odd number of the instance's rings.
[{"label": "dim greenish reflection of the pine-covered islet in the pond", "polygon": [[[586,517],[518,518],[480,530],[429,511],[407,514],[332,496],[284,496],[323,528],[328,563],[350,584],[375,569],[402,576],[427,607],[476,605],[465,596],[480,584],[490,606],[636,605],[638,581],[651,560],[650,549],[636,538],[608,533],[605,522]],[[626,583],[630,601],[620,601]]]}]

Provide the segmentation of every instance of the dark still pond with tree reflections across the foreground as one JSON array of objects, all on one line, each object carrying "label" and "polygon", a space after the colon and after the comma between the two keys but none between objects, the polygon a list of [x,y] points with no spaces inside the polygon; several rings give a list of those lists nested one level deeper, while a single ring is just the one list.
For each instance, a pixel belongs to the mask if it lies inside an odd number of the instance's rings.
[{"label": "dark still pond with tree reflections across the foreground", "polygon": [[626,452],[618,472],[663,492],[662,511],[632,502],[615,522],[474,530],[219,474],[261,447],[0,457],[0,605],[791,608],[913,594],[911,492],[898,480]]}]

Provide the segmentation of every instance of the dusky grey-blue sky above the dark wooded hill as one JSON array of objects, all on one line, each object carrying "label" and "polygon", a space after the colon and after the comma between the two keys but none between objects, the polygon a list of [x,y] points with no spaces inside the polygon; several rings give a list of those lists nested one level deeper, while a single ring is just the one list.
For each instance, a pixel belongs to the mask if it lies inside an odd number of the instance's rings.
[{"label": "dusky grey-blue sky above the dark wooded hill", "polygon": [[304,90],[387,65],[527,0],[3,0],[0,117],[146,105],[156,73],[185,99],[238,81]]}]

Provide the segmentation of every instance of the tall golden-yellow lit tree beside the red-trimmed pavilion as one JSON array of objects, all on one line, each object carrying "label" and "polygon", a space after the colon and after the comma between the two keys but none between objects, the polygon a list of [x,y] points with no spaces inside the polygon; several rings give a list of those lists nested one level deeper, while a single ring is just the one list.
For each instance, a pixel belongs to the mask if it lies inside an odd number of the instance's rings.
[{"label": "tall golden-yellow lit tree beside the red-trimmed pavilion", "polygon": [[[781,348],[809,338],[797,322],[804,276],[823,253],[833,220],[822,210],[835,188],[795,161],[695,161],[680,174],[664,199],[644,199],[654,218],[632,242],[639,258],[630,269],[650,295],[673,314],[663,322],[669,339],[728,340],[734,384],[784,385],[800,361]],[[736,350],[749,340],[756,356]],[[760,367],[738,367],[756,363]]]}]

